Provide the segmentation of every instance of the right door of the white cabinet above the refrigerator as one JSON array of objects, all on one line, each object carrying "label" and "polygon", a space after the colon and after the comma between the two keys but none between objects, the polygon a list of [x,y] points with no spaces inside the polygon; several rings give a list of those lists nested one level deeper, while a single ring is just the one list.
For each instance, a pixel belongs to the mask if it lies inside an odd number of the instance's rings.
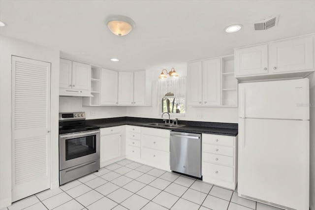
[{"label": "right door of the white cabinet above the refrigerator", "polygon": [[274,42],[269,45],[272,73],[313,69],[314,36]]}]

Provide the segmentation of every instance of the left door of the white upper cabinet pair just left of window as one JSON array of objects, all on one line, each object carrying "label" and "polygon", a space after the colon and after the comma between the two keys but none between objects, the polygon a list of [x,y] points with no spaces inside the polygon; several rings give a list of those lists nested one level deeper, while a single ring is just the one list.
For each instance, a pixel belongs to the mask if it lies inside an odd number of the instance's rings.
[{"label": "left door of the white upper cabinet pair just left of window", "polygon": [[133,105],[133,72],[118,72],[118,105]]}]

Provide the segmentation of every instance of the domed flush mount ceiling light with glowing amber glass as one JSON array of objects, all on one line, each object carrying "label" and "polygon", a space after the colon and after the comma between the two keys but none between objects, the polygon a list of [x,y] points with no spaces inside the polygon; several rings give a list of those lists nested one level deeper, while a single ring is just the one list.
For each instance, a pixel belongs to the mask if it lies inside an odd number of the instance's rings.
[{"label": "domed flush mount ceiling light with glowing amber glass", "polygon": [[108,29],[118,36],[127,35],[136,26],[131,18],[123,15],[111,15],[105,22]]}]

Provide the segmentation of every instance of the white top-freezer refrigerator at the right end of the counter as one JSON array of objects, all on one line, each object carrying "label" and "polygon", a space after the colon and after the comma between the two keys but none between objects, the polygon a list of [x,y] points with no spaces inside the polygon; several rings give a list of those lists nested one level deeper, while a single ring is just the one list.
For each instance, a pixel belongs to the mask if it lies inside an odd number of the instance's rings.
[{"label": "white top-freezer refrigerator at the right end of the counter", "polygon": [[239,84],[238,195],[309,210],[309,79]]}]

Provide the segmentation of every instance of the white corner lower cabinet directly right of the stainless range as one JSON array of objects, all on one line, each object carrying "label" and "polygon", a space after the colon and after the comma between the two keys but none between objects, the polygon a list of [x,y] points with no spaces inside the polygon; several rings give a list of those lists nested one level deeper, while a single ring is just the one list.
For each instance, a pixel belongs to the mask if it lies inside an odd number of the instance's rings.
[{"label": "white corner lower cabinet directly right of the stainless range", "polygon": [[125,158],[125,138],[123,128],[116,126],[100,129],[100,167]]}]

